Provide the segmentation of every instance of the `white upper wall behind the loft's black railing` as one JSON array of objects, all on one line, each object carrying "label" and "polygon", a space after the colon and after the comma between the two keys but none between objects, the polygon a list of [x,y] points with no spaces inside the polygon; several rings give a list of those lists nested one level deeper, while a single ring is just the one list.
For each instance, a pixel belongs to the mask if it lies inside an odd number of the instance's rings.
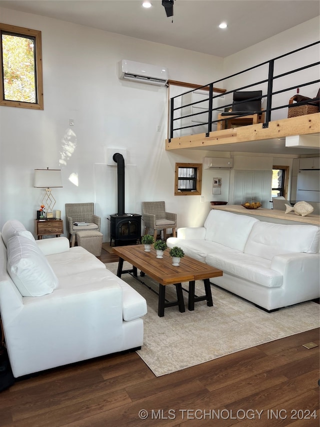
[{"label": "white upper wall behind the loft's black railing", "polygon": [[[237,52],[236,54],[224,58],[223,75],[230,76],[233,73],[241,72],[257,64],[261,64],[288,52],[302,48],[303,46],[317,42],[319,40],[319,18],[320,17],[313,18],[305,23],[264,40],[263,42],[257,43],[247,49]],[[270,25],[272,25],[272,23],[270,23]],[[304,51],[275,61],[273,75],[277,76],[282,73],[287,73],[293,69],[297,69],[306,64],[315,63],[319,60],[319,45],[316,45],[312,48],[308,48]],[[244,73],[243,75],[224,81],[223,84],[227,90],[232,90],[244,86],[245,84],[267,79],[267,76],[268,66],[264,65]],[[303,70],[299,73],[287,75],[283,78],[275,79],[273,81],[272,90],[275,92],[317,79],[319,79],[318,66]],[[260,84],[247,90],[258,89],[261,89],[263,95],[265,95],[267,93],[267,83]],[[319,84],[315,83],[310,86],[302,87],[300,89],[300,94],[313,98],[316,96],[318,89]],[[272,107],[287,104],[289,98],[295,95],[295,93],[295,90],[290,90],[273,96]],[[232,102],[231,94],[228,96],[228,99],[229,102]],[[265,108],[265,106],[266,100],[264,99],[262,107]],[[286,117],[287,109],[275,110],[271,113],[271,120],[284,119]]]}]

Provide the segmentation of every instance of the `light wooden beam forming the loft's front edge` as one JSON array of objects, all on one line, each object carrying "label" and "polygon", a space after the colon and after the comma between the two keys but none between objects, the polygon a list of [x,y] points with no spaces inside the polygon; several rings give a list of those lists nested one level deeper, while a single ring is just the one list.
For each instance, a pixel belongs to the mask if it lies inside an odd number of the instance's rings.
[{"label": "light wooden beam forming the loft's front edge", "polygon": [[[192,148],[216,151],[266,152],[259,149],[259,143],[262,143],[262,141],[284,140],[287,136],[295,135],[315,135],[320,139],[320,113],[271,121],[268,128],[263,128],[260,123],[210,132],[208,137],[205,137],[205,134],[202,133],[171,138],[170,142],[166,139],[165,150]],[[248,146],[251,149],[248,149]],[[295,150],[300,149],[297,148]],[[286,151],[290,154],[290,149]]]}]

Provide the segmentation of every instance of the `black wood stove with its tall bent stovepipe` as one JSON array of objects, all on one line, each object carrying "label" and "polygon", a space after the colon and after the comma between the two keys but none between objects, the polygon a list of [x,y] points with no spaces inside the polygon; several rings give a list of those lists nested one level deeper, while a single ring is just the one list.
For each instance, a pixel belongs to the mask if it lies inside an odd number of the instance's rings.
[{"label": "black wood stove with its tall bent stovepipe", "polygon": [[122,154],[113,154],[117,164],[117,204],[118,212],[110,215],[110,246],[132,245],[140,242],[141,215],[124,213],[124,159]]}]

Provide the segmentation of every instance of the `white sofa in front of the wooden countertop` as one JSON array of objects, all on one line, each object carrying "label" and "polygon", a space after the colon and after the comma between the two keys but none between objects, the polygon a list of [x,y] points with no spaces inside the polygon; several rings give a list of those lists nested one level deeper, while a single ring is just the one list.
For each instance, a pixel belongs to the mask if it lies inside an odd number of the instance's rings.
[{"label": "white sofa in front of the wooden countertop", "polygon": [[212,283],[265,310],[319,297],[319,227],[282,225],[211,210],[203,227],[179,228],[168,247],[223,271]]}]

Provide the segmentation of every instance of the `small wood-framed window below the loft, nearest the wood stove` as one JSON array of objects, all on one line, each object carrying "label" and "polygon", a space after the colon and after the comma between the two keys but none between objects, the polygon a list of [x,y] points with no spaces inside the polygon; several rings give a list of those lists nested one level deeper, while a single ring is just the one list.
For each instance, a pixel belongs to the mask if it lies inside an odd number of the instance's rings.
[{"label": "small wood-framed window below the loft, nearest the wood stove", "polygon": [[174,177],[175,196],[201,195],[202,164],[176,163]]}]

